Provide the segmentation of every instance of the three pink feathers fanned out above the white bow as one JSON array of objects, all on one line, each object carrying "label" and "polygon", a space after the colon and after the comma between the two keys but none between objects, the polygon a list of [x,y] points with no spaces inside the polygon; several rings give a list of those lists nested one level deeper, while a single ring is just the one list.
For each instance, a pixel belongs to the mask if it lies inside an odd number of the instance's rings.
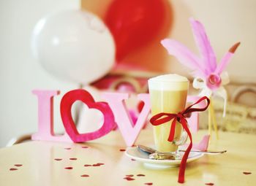
[{"label": "three pink feathers fanned out above the white bow", "polygon": [[[180,63],[191,69],[194,77],[200,77],[203,80],[206,80],[213,74],[215,76],[220,76],[240,42],[234,44],[224,58],[222,58],[219,65],[217,65],[216,55],[211,47],[211,43],[209,42],[203,25],[193,18],[190,18],[189,21],[192,26],[195,42],[201,54],[200,58],[192,53],[186,46],[184,46],[184,44],[181,44],[174,39],[163,39],[161,42],[162,45],[167,49],[170,55],[175,56]],[[211,81],[211,84],[214,83]],[[219,87],[219,85],[217,85],[217,87]]]}]

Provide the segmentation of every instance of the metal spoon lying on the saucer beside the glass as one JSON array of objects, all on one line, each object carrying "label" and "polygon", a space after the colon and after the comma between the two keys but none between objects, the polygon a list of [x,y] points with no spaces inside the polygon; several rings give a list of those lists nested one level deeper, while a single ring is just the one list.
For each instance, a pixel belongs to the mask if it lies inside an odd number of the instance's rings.
[{"label": "metal spoon lying on the saucer beside the glass", "polygon": [[[157,150],[154,150],[151,147],[146,147],[144,145],[139,144],[138,146],[139,150],[142,150],[143,152],[146,152],[148,154],[157,153],[158,155],[175,155],[175,152],[158,152]],[[178,150],[179,152],[185,152],[185,150]],[[191,150],[190,152],[200,153],[200,154],[207,154],[207,155],[219,155],[227,152],[227,150],[222,151],[198,151],[198,150]]]}]

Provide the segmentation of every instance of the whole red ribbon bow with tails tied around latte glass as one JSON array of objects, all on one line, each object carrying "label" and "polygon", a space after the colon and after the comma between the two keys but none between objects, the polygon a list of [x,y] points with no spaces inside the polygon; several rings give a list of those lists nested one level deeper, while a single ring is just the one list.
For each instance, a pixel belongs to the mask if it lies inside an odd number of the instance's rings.
[{"label": "whole red ribbon bow with tails tied around latte glass", "polygon": [[[207,105],[205,107],[203,107],[203,108],[192,108],[192,106],[194,106],[196,104],[199,104],[201,101],[204,101],[204,100],[207,101]],[[162,124],[165,124],[165,123],[169,122],[170,120],[173,120],[173,122],[170,126],[170,135],[168,137],[169,142],[173,142],[177,120],[181,123],[182,127],[184,128],[184,130],[187,132],[187,134],[189,136],[190,144],[189,144],[189,147],[187,147],[187,150],[186,150],[186,152],[184,153],[184,155],[182,157],[181,166],[179,168],[179,173],[178,173],[178,182],[179,183],[184,183],[184,174],[185,174],[185,169],[186,169],[187,158],[189,156],[190,150],[192,149],[192,135],[189,131],[189,128],[187,127],[187,120],[186,120],[186,117],[184,115],[192,113],[192,112],[205,111],[208,108],[209,104],[210,104],[210,99],[207,98],[206,96],[203,96],[197,102],[195,102],[195,104],[192,104],[192,105],[188,106],[183,111],[178,112],[178,114],[170,114],[170,113],[161,112],[157,115],[154,115],[150,119],[150,122],[151,122],[152,125],[162,125]]]}]

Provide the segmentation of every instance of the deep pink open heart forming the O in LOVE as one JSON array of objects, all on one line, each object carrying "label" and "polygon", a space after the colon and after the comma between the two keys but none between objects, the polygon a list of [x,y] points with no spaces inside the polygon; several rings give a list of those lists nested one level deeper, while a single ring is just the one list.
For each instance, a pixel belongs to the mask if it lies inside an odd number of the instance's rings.
[{"label": "deep pink open heart forming the O in LOVE", "polygon": [[[89,109],[98,109],[104,116],[104,123],[97,131],[90,133],[78,133],[74,120],[72,119],[72,104],[82,101]],[[69,137],[73,142],[87,142],[105,136],[115,127],[115,119],[110,106],[105,102],[95,102],[89,92],[83,89],[71,90],[61,99],[61,120]]]}]

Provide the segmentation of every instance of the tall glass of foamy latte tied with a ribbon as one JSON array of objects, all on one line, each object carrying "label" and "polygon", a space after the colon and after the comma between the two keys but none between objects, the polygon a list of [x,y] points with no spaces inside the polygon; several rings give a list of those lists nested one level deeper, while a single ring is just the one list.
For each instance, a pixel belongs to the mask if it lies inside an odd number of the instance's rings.
[{"label": "tall glass of foamy latte tied with a ribbon", "polygon": [[[151,101],[151,115],[160,112],[177,114],[185,109],[189,80],[178,74],[165,74],[148,80],[148,90]],[[176,152],[178,145],[184,144],[187,136],[181,123],[176,123],[173,142],[168,142],[170,122],[153,126],[154,143],[159,152]]]}]

